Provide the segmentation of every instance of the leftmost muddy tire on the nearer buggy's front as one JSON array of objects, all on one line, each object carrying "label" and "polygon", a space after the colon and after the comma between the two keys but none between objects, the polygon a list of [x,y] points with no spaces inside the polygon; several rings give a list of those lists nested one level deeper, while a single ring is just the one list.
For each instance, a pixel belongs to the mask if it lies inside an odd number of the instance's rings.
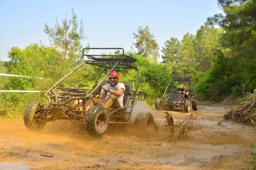
[{"label": "leftmost muddy tire on the nearer buggy's front", "polygon": [[36,115],[39,113],[41,108],[45,108],[44,104],[40,102],[34,102],[29,104],[24,112],[24,115],[23,115],[24,124],[26,128],[28,128],[31,131],[41,130],[46,125],[46,123],[39,122],[36,119]]}]

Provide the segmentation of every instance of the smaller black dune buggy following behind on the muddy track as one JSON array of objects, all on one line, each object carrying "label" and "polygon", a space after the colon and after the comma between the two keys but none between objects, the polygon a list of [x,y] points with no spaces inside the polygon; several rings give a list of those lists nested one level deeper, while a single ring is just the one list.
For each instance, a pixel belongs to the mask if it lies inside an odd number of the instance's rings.
[{"label": "smaller black dune buggy following behind on the muddy track", "polygon": [[[183,85],[186,85],[189,95],[186,98],[184,93],[179,93],[180,91],[185,91]],[[162,107],[167,107],[173,109],[173,107],[183,108],[186,113],[190,111],[190,106],[194,111],[198,110],[198,100],[193,99],[193,84],[191,78],[189,77],[173,77],[172,81],[169,82],[167,88],[165,89],[163,99],[156,99],[155,107],[156,110],[160,110]]]}]

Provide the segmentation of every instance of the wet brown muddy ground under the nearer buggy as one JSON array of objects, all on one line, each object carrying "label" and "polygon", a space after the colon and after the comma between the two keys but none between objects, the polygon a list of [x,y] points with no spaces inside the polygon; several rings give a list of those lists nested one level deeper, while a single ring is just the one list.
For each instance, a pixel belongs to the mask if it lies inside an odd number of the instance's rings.
[{"label": "wet brown muddy ground under the nearer buggy", "polygon": [[171,137],[164,122],[166,111],[147,110],[159,127],[151,135],[143,134],[140,129],[112,127],[102,138],[92,138],[80,125],[64,120],[47,124],[43,131],[32,132],[26,129],[23,120],[1,120],[0,169],[241,170],[250,167],[248,150],[251,142],[256,141],[256,129],[221,122],[229,106],[199,102],[198,111],[168,111],[175,125]]}]

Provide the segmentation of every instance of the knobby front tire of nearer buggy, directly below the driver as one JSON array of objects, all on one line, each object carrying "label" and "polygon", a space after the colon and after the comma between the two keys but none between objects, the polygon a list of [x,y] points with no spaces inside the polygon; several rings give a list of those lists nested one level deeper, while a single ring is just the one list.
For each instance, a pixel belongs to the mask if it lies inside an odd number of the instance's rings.
[{"label": "knobby front tire of nearer buggy, directly below the driver", "polygon": [[109,127],[108,110],[100,105],[91,107],[85,117],[85,128],[89,135],[101,137]]}]

